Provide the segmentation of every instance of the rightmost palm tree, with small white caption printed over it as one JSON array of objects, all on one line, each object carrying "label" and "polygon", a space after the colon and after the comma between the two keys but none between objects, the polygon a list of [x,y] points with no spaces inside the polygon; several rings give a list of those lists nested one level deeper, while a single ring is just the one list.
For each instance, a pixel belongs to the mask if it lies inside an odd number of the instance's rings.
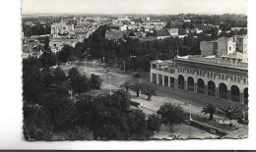
[{"label": "rightmost palm tree, with small white caption printed over it", "polygon": [[[238,121],[242,119],[242,111],[237,106],[234,106],[232,104],[222,107],[218,113],[226,117],[229,121]],[[229,124],[229,127],[232,127],[232,124]]]}]

